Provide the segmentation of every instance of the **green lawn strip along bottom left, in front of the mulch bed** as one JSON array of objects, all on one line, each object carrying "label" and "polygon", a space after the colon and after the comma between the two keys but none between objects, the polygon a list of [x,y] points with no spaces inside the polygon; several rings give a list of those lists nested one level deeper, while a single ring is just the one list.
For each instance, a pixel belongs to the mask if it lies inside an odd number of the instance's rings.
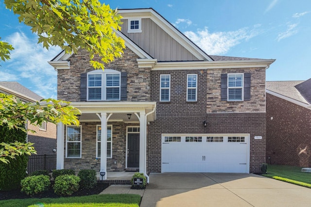
[{"label": "green lawn strip along bottom left, in front of the mulch bed", "polygon": [[136,194],[10,199],[0,201],[0,207],[139,207],[140,199],[140,195]]}]

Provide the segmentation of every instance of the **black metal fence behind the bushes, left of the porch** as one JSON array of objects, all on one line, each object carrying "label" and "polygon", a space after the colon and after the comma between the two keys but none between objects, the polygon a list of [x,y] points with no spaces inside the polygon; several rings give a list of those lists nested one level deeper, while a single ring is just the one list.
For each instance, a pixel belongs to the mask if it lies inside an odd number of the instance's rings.
[{"label": "black metal fence behind the bushes, left of the porch", "polygon": [[56,169],[56,155],[32,155],[28,160],[28,174],[37,170],[48,170],[51,172]]}]

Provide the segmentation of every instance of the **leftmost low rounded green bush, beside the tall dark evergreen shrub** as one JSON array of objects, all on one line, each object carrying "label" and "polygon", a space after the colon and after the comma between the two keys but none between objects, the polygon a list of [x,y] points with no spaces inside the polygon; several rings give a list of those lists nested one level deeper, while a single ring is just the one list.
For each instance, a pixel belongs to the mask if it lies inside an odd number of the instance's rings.
[{"label": "leftmost low rounded green bush, beside the tall dark evergreen shrub", "polygon": [[27,195],[34,195],[47,191],[50,184],[50,176],[47,175],[29,176],[20,181],[21,191]]}]

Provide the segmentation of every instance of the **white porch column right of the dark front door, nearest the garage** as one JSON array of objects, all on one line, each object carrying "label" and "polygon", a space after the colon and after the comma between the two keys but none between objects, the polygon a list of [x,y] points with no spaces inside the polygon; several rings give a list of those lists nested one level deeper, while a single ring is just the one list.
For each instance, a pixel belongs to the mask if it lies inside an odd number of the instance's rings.
[{"label": "white porch column right of the dark front door, nearest the garage", "polygon": [[145,172],[145,142],[146,142],[146,117],[145,111],[139,113],[140,129],[139,129],[139,173]]}]

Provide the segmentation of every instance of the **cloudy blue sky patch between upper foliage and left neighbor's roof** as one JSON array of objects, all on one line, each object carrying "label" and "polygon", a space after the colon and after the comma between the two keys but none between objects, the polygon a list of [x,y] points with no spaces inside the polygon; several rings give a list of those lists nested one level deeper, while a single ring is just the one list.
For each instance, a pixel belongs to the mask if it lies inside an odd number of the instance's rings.
[{"label": "cloudy blue sky patch between upper foliage and left neighbor's roof", "polygon": [[6,41],[15,49],[11,59],[2,64],[1,70],[5,71],[6,77],[0,74],[0,80],[18,81],[39,96],[56,98],[56,71],[47,62],[61,49],[51,47],[47,50],[37,44],[36,35],[29,38],[22,32],[9,35]]}]

